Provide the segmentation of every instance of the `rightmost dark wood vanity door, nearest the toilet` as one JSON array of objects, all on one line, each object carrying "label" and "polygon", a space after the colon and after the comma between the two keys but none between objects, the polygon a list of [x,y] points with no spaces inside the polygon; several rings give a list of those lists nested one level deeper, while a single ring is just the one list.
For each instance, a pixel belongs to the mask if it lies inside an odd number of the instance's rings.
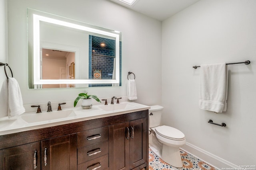
[{"label": "rightmost dark wood vanity door, nearest the toilet", "polygon": [[146,162],[146,119],[130,121],[130,169]]}]

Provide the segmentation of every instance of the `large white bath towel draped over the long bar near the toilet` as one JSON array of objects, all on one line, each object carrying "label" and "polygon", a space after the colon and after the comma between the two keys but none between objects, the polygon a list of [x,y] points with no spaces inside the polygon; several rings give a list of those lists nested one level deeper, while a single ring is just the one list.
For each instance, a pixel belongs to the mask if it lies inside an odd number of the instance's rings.
[{"label": "large white bath towel draped over the long bar near the toilet", "polygon": [[202,64],[200,68],[199,108],[216,113],[226,111],[228,92],[226,63]]}]

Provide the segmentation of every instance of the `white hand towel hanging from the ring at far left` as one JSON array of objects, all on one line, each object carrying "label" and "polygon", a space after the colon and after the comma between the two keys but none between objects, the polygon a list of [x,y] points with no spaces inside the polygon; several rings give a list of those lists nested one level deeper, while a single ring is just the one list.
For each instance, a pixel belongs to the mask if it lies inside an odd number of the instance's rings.
[{"label": "white hand towel hanging from the ring at far left", "polygon": [[9,109],[8,117],[20,115],[25,112],[23,107],[22,96],[20,92],[20,86],[15,78],[9,77],[8,80],[8,97],[9,97]]}]

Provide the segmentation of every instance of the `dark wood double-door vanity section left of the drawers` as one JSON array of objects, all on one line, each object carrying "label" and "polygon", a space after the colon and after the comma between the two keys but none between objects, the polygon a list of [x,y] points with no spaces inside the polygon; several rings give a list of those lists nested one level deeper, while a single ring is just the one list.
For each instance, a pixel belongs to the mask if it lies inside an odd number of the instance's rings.
[{"label": "dark wood double-door vanity section left of the drawers", "polygon": [[76,170],[76,134],[0,150],[1,170]]}]

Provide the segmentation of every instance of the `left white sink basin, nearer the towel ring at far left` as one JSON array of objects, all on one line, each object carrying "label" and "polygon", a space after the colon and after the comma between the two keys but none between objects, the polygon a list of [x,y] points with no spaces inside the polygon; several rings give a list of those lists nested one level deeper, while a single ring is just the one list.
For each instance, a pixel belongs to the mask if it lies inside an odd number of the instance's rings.
[{"label": "left white sink basin, nearer the towel ring at far left", "polygon": [[40,121],[49,121],[54,119],[62,119],[66,117],[76,116],[73,110],[60,110],[60,111],[51,111],[44,113],[34,113],[31,115],[22,115],[22,119],[28,123],[35,123]]}]

